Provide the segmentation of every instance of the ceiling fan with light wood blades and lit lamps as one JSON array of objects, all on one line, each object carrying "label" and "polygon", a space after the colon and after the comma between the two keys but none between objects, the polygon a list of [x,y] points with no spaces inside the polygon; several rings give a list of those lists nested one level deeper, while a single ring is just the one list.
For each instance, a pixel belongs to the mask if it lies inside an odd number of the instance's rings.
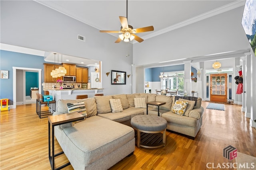
[{"label": "ceiling fan with light wood blades and lit lamps", "polygon": [[127,7],[127,5],[128,5],[128,0],[126,0],[126,17],[119,16],[119,19],[120,19],[120,22],[122,25],[121,30],[120,31],[100,30],[100,32],[102,32],[102,33],[122,33],[119,35],[119,38],[115,41],[115,43],[120,43],[120,41],[129,42],[129,41],[132,41],[133,39],[135,39],[136,41],[141,43],[142,41],[144,41],[144,39],[138,37],[137,35],[135,35],[135,33],[154,31],[154,27],[148,26],[148,27],[133,29],[132,25],[128,25],[128,17],[127,17],[128,16],[127,15],[128,7]]}]

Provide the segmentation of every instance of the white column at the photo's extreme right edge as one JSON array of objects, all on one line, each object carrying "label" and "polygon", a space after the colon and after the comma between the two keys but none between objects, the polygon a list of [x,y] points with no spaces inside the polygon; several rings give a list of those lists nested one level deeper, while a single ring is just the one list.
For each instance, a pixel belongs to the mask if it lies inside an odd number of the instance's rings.
[{"label": "white column at the photo's extreme right edge", "polygon": [[[253,53],[253,52],[252,52]],[[256,57],[251,55],[251,118],[250,126],[256,127]]]}]

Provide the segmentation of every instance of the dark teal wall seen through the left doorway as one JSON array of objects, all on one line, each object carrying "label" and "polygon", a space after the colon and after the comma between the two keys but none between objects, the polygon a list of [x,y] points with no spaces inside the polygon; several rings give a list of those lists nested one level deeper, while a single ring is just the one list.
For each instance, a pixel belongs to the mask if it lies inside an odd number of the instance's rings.
[{"label": "dark teal wall seen through the left doorway", "polygon": [[26,96],[30,96],[30,88],[38,88],[38,72],[26,72]]}]

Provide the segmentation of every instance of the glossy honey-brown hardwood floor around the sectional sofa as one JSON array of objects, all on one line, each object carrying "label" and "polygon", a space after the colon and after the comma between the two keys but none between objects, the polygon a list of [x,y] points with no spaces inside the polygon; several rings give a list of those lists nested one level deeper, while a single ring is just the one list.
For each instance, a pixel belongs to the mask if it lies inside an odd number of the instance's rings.
[{"label": "glossy honey-brown hardwood floor around the sectional sofa", "polygon": [[[206,108],[208,103],[202,102],[202,106]],[[0,114],[0,169],[50,170],[48,118],[38,118],[36,104],[20,105]],[[57,153],[61,148],[57,141],[55,143]],[[238,152],[256,157],[256,129],[249,126],[249,118],[244,117],[241,106],[236,104],[225,104],[225,111],[205,109],[203,125],[195,140],[167,131],[166,147],[135,147],[132,156],[110,170],[208,169],[207,163],[210,163],[208,167],[212,167],[212,163],[216,167],[218,163],[236,162],[223,157],[223,149],[229,145]],[[58,156],[56,167],[66,162],[66,156]],[[65,169],[73,168],[70,165]]]}]

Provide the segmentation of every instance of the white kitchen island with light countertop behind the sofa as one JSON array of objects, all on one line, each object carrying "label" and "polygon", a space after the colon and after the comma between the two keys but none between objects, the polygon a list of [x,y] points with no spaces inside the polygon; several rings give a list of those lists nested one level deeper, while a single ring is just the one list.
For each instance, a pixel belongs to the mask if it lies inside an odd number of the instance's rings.
[{"label": "white kitchen island with light countertop behind the sofa", "polygon": [[96,93],[103,93],[102,88],[44,89],[44,91],[49,91],[49,95],[52,95],[56,102],[60,99],[74,100],[77,95],[83,94],[87,94],[88,98],[93,98]]}]

